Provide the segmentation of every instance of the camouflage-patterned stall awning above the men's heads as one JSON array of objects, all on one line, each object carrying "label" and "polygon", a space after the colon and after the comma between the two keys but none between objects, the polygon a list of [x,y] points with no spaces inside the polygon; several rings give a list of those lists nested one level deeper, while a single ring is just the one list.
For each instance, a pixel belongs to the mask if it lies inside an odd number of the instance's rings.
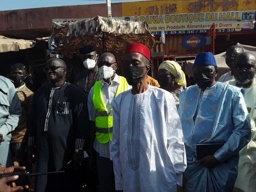
[{"label": "camouflage-patterned stall awning above the men's heads", "polygon": [[53,22],[51,41],[55,50],[71,57],[73,52],[88,44],[95,44],[97,51],[119,52],[130,43],[142,43],[151,49],[154,36],[146,21],[124,21],[97,16],[75,22]]}]

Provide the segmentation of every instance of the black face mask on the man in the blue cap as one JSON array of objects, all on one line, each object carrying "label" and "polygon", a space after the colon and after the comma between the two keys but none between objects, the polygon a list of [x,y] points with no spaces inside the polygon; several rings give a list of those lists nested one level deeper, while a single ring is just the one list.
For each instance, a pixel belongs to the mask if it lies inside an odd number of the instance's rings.
[{"label": "black face mask on the man in the blue cap", "polygon": [[210,74],[195,73],[194,74],[194,79],[195,79],[196,84],[200,88],[206,89],[213,82],[214,73],[210,73]]}]

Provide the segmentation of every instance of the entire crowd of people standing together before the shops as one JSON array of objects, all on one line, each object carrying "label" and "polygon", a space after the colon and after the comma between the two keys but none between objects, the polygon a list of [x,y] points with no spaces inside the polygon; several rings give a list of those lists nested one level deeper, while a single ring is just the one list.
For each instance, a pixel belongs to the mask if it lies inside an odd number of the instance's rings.
[{"label": "entire crowd of people standing together before the shops", "polygon": [[[253,53],[229,47],[230,71],[219,82],[214,55],[199,53],[196,84],[185,87],[175,62],[161,64],[160,85],[148,76],[150,50],[139,43],[126,47],[124,77],[113,53],[98,55],[94,45],[79,52],[85,69],[74,84],[57,58],[46,62],[49,83],[35,93],[21,63],[11,66],[11,81],[0,76],[0,176],[63,171],[38,175],[42,192],[256,190]],[[18,178],[0,179],[0,192],[28,190]]]}]

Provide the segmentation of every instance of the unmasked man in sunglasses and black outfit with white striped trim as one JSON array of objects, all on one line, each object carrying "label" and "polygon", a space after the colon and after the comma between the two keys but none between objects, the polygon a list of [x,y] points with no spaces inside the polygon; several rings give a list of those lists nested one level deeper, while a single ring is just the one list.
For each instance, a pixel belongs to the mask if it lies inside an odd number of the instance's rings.
[{"label": "unmasked man in sunglasses and black outfit with white striped trim", "polygon": [[76,170],[84,157],[88,130],[85,95],[77,86],[66,82],[65,61],[51,58],[44,71],[49,84],[34,94],[28,127],[28,145],[30,148],[36,145],[36,171],[59,171],[70,161],[75,169],[38,176],[35,190],[79,191]]}]

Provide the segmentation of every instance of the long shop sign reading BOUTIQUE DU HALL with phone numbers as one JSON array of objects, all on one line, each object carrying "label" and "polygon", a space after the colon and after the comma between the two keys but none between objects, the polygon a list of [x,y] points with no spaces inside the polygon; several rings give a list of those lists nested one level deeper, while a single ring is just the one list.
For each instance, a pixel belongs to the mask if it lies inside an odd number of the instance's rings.
[{"label": "long shop sign reading BOUTIQUE DU HALL with phone numbers", "polygon": [[230,11],[170,15],[148,15],[116,18],[130,21],[147,21],[154,35],[207,33],[213,23],[216,32],[255,30],[255,11]]}]

